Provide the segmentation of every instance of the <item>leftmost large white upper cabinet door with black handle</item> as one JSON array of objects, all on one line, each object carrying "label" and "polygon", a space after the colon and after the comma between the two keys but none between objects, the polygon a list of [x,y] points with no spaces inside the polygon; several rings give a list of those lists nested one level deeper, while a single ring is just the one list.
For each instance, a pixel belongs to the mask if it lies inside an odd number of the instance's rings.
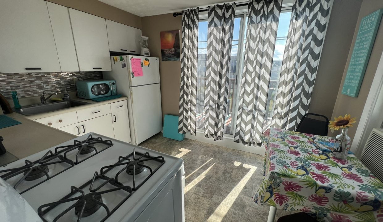
[{"label": "leftmost large white upper cabinet door with black handle", "polygon": [[0,0],[0,72],[60,71],[46,2]]}]

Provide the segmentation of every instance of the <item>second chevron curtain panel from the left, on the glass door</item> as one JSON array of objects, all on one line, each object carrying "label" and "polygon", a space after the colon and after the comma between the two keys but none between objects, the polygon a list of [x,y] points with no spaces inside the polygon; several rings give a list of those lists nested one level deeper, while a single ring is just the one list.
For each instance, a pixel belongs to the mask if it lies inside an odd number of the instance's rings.
[{"label": "second chevron curtain panel from the left, on the glass door", "polygon": [[205,137],[223,139],[236,3],[208,7]]}]

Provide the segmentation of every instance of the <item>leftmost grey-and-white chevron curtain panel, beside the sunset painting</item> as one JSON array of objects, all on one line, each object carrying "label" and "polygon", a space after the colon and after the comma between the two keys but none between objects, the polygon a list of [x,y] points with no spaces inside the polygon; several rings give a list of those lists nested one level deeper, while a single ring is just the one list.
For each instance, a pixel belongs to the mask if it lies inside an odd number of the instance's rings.
[{"label": "leftmost grey-and-white chevron curtain panel, beside the sunset painting", "polygon": [[181,87],[178,132],[196,132],[198,8],[182,12]]}]

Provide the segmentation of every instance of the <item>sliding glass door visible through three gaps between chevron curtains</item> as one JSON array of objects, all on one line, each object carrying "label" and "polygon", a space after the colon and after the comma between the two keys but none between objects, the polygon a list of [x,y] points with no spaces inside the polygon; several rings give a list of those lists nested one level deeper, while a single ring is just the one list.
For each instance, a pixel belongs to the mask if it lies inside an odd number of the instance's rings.
[{"label": "sliding glass door visible through three gaps between chevron curtains", "polygon": [[[265,128],[271,123],[272,112],[275,104],[275,96],[278,90],[279,75],[282,66],[283,52],[285,51],[288,28],[290,24],[290,10],[283,10],[277,31],[277,41],[273,57],[272,73],[269,84],[267,98],[267,110],[265,118]],[[228,111],[226,112],[224,133],[229,136],[234,134],[236,127],[236,116],[238,110],[238,100],[240,84],[242,79],[244,52],[246,46],[247,13],[241,13],[234,19],[233,41],[231,49],[231,63],[229,71],[229,93]],[[205,88],[206,88],[206,49],[208,38],[208,21],[200,19],[198,24],[198,67],[197,67],[197,110],[196,127],[204,128],[205,113]]]}]

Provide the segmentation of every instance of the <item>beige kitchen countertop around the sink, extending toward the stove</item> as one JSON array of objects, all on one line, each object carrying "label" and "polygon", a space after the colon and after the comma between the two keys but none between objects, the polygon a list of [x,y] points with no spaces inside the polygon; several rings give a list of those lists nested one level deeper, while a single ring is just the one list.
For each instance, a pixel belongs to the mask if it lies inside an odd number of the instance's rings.
[{"label": "beige kitchen countertop around the sink, extending toward the stove", "polygon": [[[77,137],[73,134],[57,130],[56,128],[35,122],[33,120],[72,112],[75,110],[87,109],[98,105],[119,102],[126,99],[128,98],[120,97],[117,99],[95,102],[92,100],[75,98],[72,100],[88,102],[90,104],[57,110],[54,112],[39,113],[32,116],[25,116],[16,112],[6,114],[8,117],[17,119],[17,121],[21,122],[21,124],[0,129],[0,136],[4,138],[3,145],[7,152],[10,152],[18,159],[22,159]],[[0,166],[1,165],[2,163],[0,162]]]}]

